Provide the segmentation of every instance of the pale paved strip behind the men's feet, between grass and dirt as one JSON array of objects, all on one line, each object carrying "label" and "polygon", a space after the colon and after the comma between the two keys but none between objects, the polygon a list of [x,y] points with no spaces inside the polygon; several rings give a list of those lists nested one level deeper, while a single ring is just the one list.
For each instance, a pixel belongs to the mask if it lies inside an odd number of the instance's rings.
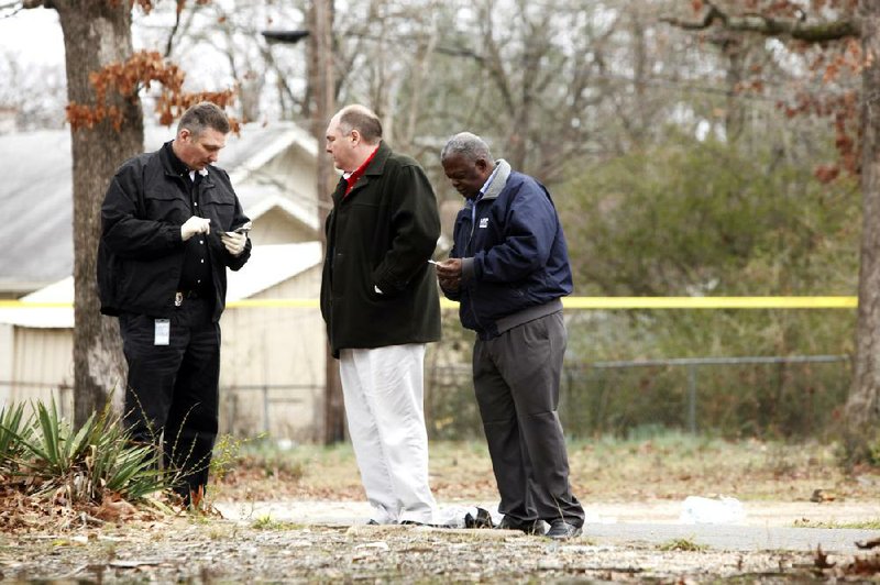
[{"label": "pale paved strip behind the men's feet, between grass and dirt", "polygon": [[[490,510],[496,505],[476,504]],[[223,518],[241,522],[268,517],[300,525],[353,526],[364,525],[370,518],[365,501],[217,503],[215,506]],[[440,511],[444,518],[462,518],[472,506],[473,503],[440,503]],[[880,503],[746,503],[743,509],[743,517],[734,523],[682,523],[682,503],[593,503],[585,506],[584,537],[596,544],[658,545],[683,539],[715,550],[815,551],[822,547],[828,553],[862,554],[871,551],[859,550],[856,542],[880,538],[880,530],[795,526],[795,522],[840,526],[880,520]]]}]

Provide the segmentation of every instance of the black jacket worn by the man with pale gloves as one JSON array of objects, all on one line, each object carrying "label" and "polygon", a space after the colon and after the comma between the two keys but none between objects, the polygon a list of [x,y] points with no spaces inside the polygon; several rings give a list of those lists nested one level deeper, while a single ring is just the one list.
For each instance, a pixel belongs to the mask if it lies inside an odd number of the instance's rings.
[{"label": "black jacket worn by the man with pale gloves", "polygon": [[[188,179],[174,170],[170,143],[154,153],[125,162],[107,189],[101,206],[98,244],[98,288],[101,312],[133,312],[170,317],[184,263],[180,225],[193,216]],[[206,235],[216,295],[215,321],[226,307],[227,272],[241,268],[251,256],[251,241],[240,256],[232,256],[219,231],[245,223],[229,175],[208,166],[199,183],[201,217],[211,220]],[[199,238],[195,235],[194,238]]]}]

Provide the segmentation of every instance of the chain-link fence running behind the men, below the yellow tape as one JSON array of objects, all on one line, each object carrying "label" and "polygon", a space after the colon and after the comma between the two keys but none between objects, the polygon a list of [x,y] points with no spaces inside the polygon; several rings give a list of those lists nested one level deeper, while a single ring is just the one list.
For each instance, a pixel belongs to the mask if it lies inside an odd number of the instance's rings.
[{"label": "chain-link fence running behind the men, below the yellow tape", "polygon": [[[427,365],[430,437],[482,437],[470,364]],[[729,438],[822,438],[846,401],[849,380],[846,355],[566,362],[559,413],[572,438],[631,437],[660,428]],[[29,386],[37,399],[55,400],[63,416],[73,415],[68,385]],[[221,431],[320,440],[320,390],[296,384],[222,387]],[[295,419],[300,422],[292,424]]]}]

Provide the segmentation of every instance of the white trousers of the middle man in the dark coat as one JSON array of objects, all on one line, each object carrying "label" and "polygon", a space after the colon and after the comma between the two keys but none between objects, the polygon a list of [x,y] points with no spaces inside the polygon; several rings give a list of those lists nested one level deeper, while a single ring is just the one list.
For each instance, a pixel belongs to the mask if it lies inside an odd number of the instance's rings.
[{"label": "white trousers of the middle man in the dark coat", "polygon": [[340,352],[349,434],[380,523],[435,523],[424,366],[424,343]]}]

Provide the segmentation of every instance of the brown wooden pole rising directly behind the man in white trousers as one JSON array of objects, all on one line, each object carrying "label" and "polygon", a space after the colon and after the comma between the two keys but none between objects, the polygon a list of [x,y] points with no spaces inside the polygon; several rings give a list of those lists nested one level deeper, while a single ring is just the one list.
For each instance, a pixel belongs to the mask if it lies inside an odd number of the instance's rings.
[{"label": "brown wooden pole rising directly behind the man in white trousers", "polygon": [[[311,108],[311,131],[318,141],[318,196],[328,203],[321,209],[332,209],[331,200],[333,167],[323,150],[324,131],[333,114],[336,82],[333,80],[333,0],[314,0],[311,3],[311,34],[309,35],[309,89],[314,97]],[[327,252],[327,240],[321,218],[321,244]],[[345,408],[342,401],[342,386],[339,379],[339,364],[327,350],[324,368],[324,443],[336,443],[345,438]]]}]

